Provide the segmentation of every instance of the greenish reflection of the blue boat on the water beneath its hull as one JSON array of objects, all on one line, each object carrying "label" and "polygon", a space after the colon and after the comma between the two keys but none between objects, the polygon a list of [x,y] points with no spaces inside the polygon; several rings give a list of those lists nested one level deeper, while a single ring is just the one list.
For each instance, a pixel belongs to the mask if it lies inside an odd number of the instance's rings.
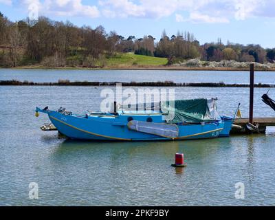
[{"label": "greenish reflection of the blue boat on the water beneath its hull", "polygon": [[[47,140],[47,139],[46,139]],[[57,142],[51,154],[52,166],[69,164],[72,161],[84,163],[85,166],[106,168],[140,166],[166,168],[175,162],[175,153],[184,153],[184,161],[195,166],[209,164],[214,166],[215,157],[219,157],[223,148],[230,146],[230,138],[210,140],[185,140],[165,142],[93,142],[63,140]],[[176,174],[184,174],[184,168],[175,168]]]}]

